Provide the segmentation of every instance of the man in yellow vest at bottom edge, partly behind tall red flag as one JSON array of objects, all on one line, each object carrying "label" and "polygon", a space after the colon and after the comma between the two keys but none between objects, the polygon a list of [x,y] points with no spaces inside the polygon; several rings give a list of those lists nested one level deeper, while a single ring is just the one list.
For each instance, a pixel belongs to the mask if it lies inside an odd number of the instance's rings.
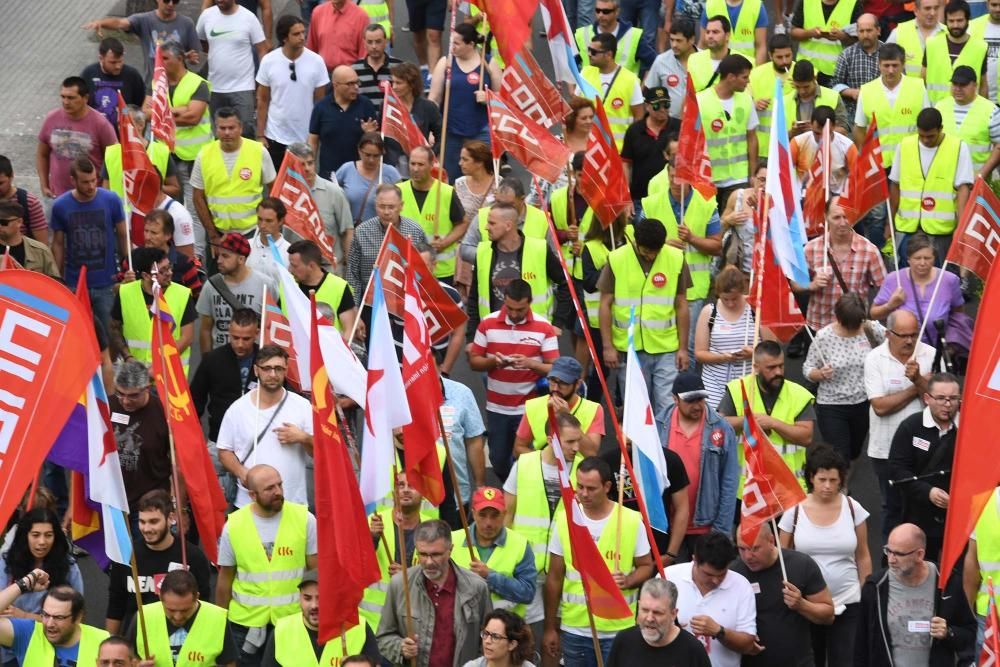
[{"label": "man in yellow vest at bottom edge, partly behind tall red flag", "polygon": [[[274,626],[267,641],[261,667],[299,667],[300,665],[344,664],[348,656],[363,654],[373,661],[379,658],[375,635],[367,623],[347,631],[343,641],[334,637],[326,644],[319,641],[319,573],[310,570],[299,583],[298,614],[285,616]],[[310,647],[312,651],[310,651]]]}]

